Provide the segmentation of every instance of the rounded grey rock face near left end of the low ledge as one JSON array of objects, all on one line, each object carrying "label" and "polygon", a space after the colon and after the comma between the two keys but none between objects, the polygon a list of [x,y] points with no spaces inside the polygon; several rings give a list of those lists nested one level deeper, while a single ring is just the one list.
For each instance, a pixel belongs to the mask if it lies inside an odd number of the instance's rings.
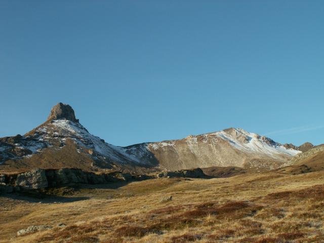
[{"label": "rounded grey rock face near left end of the low ledge", "polygon": [[48,186],[45,170],[36,169],[17,175],[16,185],[22,189],[40,189]]}]

